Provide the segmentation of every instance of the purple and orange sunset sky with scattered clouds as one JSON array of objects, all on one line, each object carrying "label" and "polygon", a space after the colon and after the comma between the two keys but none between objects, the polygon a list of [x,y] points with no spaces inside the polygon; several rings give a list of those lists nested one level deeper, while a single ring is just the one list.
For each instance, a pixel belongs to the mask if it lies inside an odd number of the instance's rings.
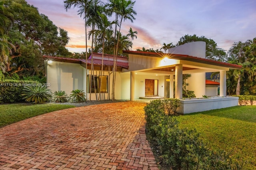
[{"label": "purple and orange sunset sky with scattered clouds", "polygon": [[[53,23],[68,31],[70,52],[85,51],[84,20],[77,9],[66,12],[63,0],[26,0]],[[125,21],[121,32],[138,31],[133,50],[160,49],[188,34],[213,39],[228,50],[234,42],[256,37],[256,0],[136,0],[136,20]]]}]

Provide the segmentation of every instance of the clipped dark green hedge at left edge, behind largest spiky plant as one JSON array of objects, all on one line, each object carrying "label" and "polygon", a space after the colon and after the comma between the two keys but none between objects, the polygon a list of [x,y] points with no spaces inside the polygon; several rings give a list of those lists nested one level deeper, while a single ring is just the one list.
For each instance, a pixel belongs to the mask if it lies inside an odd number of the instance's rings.
[{"label": "clipped dark green hedge at left edge, behind largest spiky plant", "polygon": [[31,80],[1,80],[0,103],[25,102],[21,96],[24,86],[40,86],[38,81]]}]

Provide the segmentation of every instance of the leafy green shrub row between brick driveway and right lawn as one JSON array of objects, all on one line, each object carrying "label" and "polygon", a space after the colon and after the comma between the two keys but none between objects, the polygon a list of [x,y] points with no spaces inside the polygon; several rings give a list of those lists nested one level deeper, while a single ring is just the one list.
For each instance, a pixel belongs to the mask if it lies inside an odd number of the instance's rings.
[{"label": "leafy green shrub row between brick driveway and right lawn", "polygon": [[146,132],[156,141],[162,162],[173,170],[230,170],[244,164],[234,162],[231,153],[211,150],[196,130],[180,129],[174,116],[165,112],[164,102],[154,100],[144,107]]}]

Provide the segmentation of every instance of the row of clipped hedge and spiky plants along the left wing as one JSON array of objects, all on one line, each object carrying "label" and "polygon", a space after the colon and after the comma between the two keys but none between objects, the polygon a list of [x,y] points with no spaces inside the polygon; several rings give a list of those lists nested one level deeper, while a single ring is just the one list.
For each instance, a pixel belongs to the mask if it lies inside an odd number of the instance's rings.
[{"label": "row of clipped hedge and spiky plants along the left wing", "polygon": [[[53,97],[53,99],[52,99]],[[68,96],[65,91],[52,92],[42,83],[31,80],[1,80],[0,103],[14,102],[84,102],[83,90],[73,90]]]}]

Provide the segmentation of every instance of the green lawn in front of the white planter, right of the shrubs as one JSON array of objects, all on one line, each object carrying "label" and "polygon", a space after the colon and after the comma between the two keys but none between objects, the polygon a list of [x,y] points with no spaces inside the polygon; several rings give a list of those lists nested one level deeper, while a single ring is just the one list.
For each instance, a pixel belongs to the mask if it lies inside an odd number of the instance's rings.
[{"label": "green lawn in front of the white planter, right of the shrubs", "polygon": [[233,152],[256,169],[256,106],[235,106],[178,116],[180,127],[196,129],[213,149]]}]

